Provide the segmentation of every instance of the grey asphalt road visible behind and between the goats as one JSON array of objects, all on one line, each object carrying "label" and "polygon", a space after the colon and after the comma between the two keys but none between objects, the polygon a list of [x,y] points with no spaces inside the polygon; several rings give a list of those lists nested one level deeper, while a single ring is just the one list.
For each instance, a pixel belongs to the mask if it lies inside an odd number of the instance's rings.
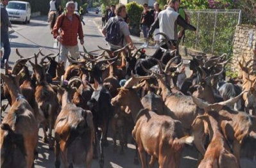
[{"label": "grey asphalt road visible behind and between the goats", "polygon": [[[101,17],[101,15],[89,13],[84,17],[85,26],[83,26],[83,33],[85,34],[85,47],[89,51],[98,49],[98,45],[101,47],[108,47],[105,39],[98,30],[98,26],[94,24],[93,19],[95,17]],[[15,60],[19,58],[15,53],[16,48],[19,49],[19,52],[21,52],[21,54],[25,57],[33,56],[33,54],[37,52],[40,48],[43,48],[42,52],[44,54],[56,54],[58,52],[58,46],[56,45],[56,40],[53,39],[53,36],[50,33],[49,24],[47,22],[46,16],[33,18],[31,19],[31,23],[27,25],[15,23],[13,24],[13,30],[15,30],[15,32],[10,34],[10,42],[12,47],[12,52],[10,55],[10,66],[13,66]],[[140,44],[138,44],[138,46],[139,45]],[[82,51],[82,46],[79,45],[79,47],[80,51]],[[150,54],[152,50],[149,49],[148,52]],[[4,101],[3,103],[6,102]],[[133,164],[133,157],[135,154],[135,146],[133,144],[128,144],[128,149],[125,149],[124,155],[114,153],[111,138],[111,128],[109,129],[110,131],[108,134],[108,141],[110,145],[105,148],[105,167],[141,167],[141,162],[139,165]],[[42,135],[42,128],[40,128],[38,142],[39,154],[38,160],[35,161],[35,167],[54,167],[54,151],[50,151],[48,145],[42,142]],[[131,137],[129,137],[128,142],[130,142],[130,139]],[[120,147],[118,146],[118,151],[119,150]],[[185,148],[182,153],[180,167],[195,167],[197,157],[198,152],[194,147]],[[241,160],[241,162],[243,162],[243,159]],[[245,163],[247,165],[243,167],[256,167],[255,162],[253,163],[251,161],[246,161]],[[92,167],[99,167],[98,160],[93,160]],[[158,165],[156,164],[155,167],[158,167]]]}]

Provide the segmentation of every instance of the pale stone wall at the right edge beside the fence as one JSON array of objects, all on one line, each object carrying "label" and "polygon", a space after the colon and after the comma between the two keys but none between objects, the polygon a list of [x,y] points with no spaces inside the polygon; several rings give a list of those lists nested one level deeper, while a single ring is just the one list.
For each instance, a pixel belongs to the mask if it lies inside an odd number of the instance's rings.
[{"label": "pale stone wall at the right edge beside the fence", "polygon": [[[252,25],[237,25],[234,36],[234,63],[236,71],[238,68],[238,61],[242,62],[243,57],[245,61],[256,59],[253,50],[256,44],[256,27]],[[254,62],[256,63],[256,61]],[[256,66],[253,67],[256,69]]]}]

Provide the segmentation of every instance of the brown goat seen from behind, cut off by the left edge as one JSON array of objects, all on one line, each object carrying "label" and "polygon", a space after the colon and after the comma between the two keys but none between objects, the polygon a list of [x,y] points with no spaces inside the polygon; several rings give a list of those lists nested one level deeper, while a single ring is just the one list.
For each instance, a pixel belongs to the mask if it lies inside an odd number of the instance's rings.
[{"label": "brown goat seen from behind, cut off by the left edge", "polygon": [[12,97],[12,107],[1,125],[1,167],[32,167],[38,142],[38,123],[30,104],[21,95],[21,73],[1,73],[1,78]]}]

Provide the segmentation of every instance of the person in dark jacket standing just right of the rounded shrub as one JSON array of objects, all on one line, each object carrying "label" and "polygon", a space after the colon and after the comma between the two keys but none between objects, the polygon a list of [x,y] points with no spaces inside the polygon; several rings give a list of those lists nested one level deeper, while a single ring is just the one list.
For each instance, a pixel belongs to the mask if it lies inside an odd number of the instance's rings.
[{"label": "person in dark jacket standing just right of the rounded shrub", "polygon": [[147,43],[147,37],[148,37],[148,30],[149,27],[152,24],[152,13],[148,10],[148,4],[144,3],[143,4],[143,8],[144,10],[141,13],[141,30],[144,36],[144,44],[141,47],[148,47],[148,43]]}]

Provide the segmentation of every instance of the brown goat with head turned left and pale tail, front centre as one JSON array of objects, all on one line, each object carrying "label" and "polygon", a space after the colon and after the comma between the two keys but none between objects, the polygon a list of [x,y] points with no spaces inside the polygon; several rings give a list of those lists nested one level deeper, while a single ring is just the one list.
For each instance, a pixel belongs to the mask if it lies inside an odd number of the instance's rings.
[{"label": "brown goat with head turned left and pale tail, front centre", "polygon": [[143,109],[137,92],[132,88],[121,88],[111,103],[127,105],[132,112],[135,123],[132,135],[137,142],[142,167],[147,167],[146,153],[151,155],[151,166],[158,158],[160,167],[179,167],[183,144],[192,142],[192,139],[183,137],[180,121]]}]

